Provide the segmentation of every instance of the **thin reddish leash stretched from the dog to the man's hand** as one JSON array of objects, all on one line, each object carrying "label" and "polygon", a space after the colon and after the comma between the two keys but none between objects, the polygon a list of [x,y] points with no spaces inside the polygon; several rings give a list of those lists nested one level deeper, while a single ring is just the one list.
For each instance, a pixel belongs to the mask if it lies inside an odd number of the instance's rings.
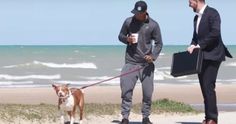
[{"label": "thin reddish leash stretched from the dog to the man's hand", "polygon": [[102,81],[99,81],[99,82],[97,82],[97,83],[93,83],[93,84],[90,84],[90,85],[83,86],[83,87],[81,87],[80,89],[85,89],[85,88],[88,88],[88,87],[91,87],[91,86],[94,86],[94,85],[101,84],[101,83],[103,83],[103,82],[107,82],[107,81],[113,80],[113,79],[118,78],[118,77],[122,77],[122,76],[129,75],[129,74],[134,73],[134,72],[136,72],[136,71],[139,71],[139,70],[141,70],[141,69],[143,69],[143,68],[145,68],[145,67],[147,67],[147,66],[148,66],[148,64],[145,64],[145,65],[143,65],[143,66],[141,66],[141,67],[139,67],[139,68],[133,69],[133,70],[128,71],[128,72],[125,72],[125,73],[120,74],[120,75],[117,75],[117,76],[115,76],[115,77],[108,78],[108,79],[106,79],[106,80],[102,80]]}]

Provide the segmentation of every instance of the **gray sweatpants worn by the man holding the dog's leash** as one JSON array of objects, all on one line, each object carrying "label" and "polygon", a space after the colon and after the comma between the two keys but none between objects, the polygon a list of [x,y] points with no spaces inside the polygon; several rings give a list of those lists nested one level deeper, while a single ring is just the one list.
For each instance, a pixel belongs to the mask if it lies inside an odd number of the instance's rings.
[{"label": "gray sweatpants worn by the man holding the dog's leash", "polygon": [[[141,65],[125,64],[121,73],[126,73],[135,68],[140,68]],[[153,93],[153,76],[154,75],[154,64],[148,64],[145,68],[130,73],[128,75],[122,76],[120,78],[121,87],[121,115],[123,118],[128,119],[131,106],[132,106],[132,96],[133,90],[139,79],[142,83],[142,115],[143,118],[150,115],[151,103],[152,103],[152,93]]]}]

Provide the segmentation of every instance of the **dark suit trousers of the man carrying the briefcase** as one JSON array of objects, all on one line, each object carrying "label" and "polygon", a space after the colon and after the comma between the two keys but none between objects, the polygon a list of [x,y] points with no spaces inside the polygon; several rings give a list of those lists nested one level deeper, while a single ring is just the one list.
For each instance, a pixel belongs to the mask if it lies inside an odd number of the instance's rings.
[{"label": "dark suit trousers of the man carrying the briefcase", "polygon": [[217,122],[218,110],[215,92],[215,83],[221,62],[203,60],[202,71],[198,74],[205,105],[205,119]]}]

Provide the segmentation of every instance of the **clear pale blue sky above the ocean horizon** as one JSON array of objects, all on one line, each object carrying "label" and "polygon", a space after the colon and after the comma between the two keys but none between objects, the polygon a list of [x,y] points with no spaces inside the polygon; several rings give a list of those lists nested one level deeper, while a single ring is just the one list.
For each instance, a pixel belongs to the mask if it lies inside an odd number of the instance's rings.
[{"label": "clear pale blue sky above the ocean horizon", "polygon": [[[0,45],[122,45],[121,26],[137,0],[0,0]],[[146,0],[164,45],[188,45],[195,13],[188,0]],[[236,45],[236,1],[206,0],[221,16],[226,45]]]}]

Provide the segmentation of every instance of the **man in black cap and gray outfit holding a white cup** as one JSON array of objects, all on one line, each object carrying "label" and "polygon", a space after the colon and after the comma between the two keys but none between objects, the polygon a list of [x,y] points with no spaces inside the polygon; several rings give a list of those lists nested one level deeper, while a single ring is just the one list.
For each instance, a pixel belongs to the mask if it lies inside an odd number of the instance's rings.
[{"label": "man in black cap and gray outfit holding a white cup", "polygon": [[131,74],[120,78],[121,86],[121,124],[129,123],[129,114],[132,106],[132,95],[135,84],[139,79],[142,83],[142,124],[152,124],[149,120],[155,66],[153,62],[159,56],[162,49],[160,27],[147,13],[147,4],[144,1],[135,3],[131,11],[134,16],[125,20],[119,40],[126,44],[125,65],[121,73],[129,72],[135,68],[141,68]]}]

